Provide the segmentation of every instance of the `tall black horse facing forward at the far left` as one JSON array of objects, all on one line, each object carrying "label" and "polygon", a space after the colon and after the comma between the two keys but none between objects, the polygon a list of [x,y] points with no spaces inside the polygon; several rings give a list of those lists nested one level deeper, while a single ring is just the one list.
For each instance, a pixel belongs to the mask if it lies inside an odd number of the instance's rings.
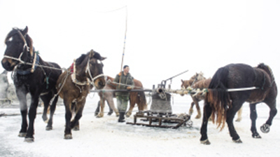
[{"label": "tall black horse facing forward at the far left", "polygon": [[[62,70],[60,70],[58,64],[42,60],[34,51],[32,39],[27,32],[28,27],[23,30],[13,28],[8,33],[5,40],[7,47],[1,63],[7,71],[15,72],[13,82],[22,114],[22,127],[19,137],[25,137],[25,142],[34,142],[34,119],[36,118],[39,97],[43,100],[44,113],[46,113],[50,100],[57,93],[55,84],[59,75],[62,74]],[[29,111],[27,111],[27,93],[31,95]],[[57,98],[55,97],[50,107],[50,120],[47,130],[52,129],[52,116]],[[27,114],[29,125],[27,124]],[[45,114],[43,119],[47,119]]]}]

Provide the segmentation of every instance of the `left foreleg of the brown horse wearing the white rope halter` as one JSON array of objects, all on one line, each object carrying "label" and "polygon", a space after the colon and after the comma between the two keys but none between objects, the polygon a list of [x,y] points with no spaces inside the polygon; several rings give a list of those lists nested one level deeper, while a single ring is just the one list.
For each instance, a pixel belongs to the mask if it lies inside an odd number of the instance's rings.
[{"label": "left foreleg of the brown horse wearing the white rope halter", "polygon": [[65,106],[65,121],[66,121],[66,126],[64,130],[64,139],[72,139],[71,125],[70,125],[70,121],[72,118],[72,112],[71,112],[72,102],[67,100],[66,97],[64,97],[63,101]]}]

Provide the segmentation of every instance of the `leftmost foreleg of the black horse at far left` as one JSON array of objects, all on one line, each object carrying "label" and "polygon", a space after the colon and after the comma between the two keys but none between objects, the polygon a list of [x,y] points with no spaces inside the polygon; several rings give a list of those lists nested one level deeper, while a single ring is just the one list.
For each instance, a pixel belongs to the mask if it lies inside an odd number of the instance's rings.
[{"label": "leftmost foreleg of the black horse at far left", "polygon": [[25,137],[27,135],[27,91],[25,88],[16,88],[16,94],[20,101],[20,114],[22,115],[22,126],[18,137]]}]

